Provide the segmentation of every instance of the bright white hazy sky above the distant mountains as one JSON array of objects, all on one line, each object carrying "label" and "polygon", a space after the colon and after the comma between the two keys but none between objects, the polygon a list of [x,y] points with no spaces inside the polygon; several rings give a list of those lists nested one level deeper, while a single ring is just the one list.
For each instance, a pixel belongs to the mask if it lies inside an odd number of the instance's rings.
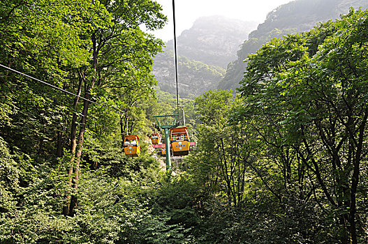
[{"label": "bright white hazy sky above the distant mountains", "polygon": [[[173,38],[172,0],[156,0],[163,6],[163,13],[168,16],[164,29],[155,31],[155,36],[164,41]],[[223,15],[238,20],[262,23],[267,13],[277,6],[291,0],[175,0],[175,19],[177,36],[191,28],[198,17]]]}]

